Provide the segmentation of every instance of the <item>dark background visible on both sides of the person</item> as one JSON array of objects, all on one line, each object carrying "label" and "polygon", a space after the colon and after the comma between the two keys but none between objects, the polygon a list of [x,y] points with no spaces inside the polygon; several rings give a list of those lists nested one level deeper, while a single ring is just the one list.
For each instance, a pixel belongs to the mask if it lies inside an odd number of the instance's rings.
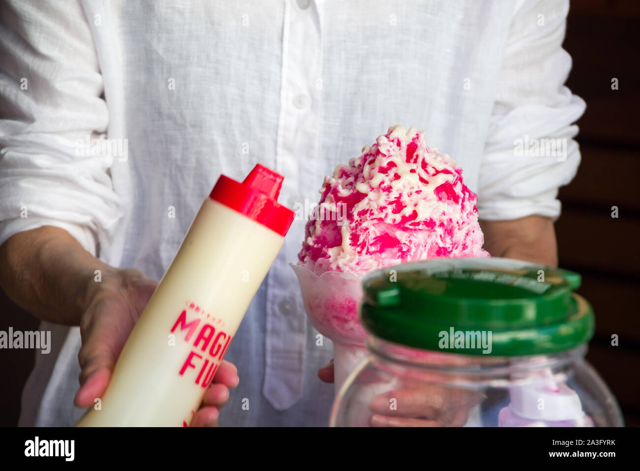
[{"label": "dark background visible on both sides of the person", "polygon": [[[556,223],[560,266],[582,274],[578,292],[596,313],[587,358],[616,395],[627,426],[640,426],[640,2],[572,4],[564,49],[573,57],[568,87],[586,101],[579,120],[582,163],[560,191]],[[618,78],[618,90],[611,89]],[[619,217],[611,217],[618,206]],[[38,320],[0,290],[0,330],[29,331]],[[619,345],[611,345],[611,335]],[[32,350],[0,359],[0,426],[15,426]]]}]

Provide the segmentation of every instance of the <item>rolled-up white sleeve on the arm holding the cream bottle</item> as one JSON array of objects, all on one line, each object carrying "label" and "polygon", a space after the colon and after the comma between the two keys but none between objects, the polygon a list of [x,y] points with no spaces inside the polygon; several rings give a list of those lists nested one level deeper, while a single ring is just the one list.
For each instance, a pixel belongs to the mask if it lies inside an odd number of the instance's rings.
[{"label": "rolled-up white sleeve on the arm holding the cream bottle", "polygon": [[0,244],[49,225],[97,254],[122,203],[110,174],[117,157],[91,151],[109,113],[90,26],[75,1],[0,9]]}]

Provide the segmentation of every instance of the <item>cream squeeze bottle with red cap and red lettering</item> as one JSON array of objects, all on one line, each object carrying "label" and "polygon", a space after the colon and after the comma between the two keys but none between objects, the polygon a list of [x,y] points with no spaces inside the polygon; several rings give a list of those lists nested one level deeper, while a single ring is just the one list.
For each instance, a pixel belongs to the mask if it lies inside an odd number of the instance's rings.
[{"label": "cream squeeze bottle with red cap and red lettering", "polygon": [[76,426],[188,426],[294,217],[282,176],[220,176],[116,362]]}]

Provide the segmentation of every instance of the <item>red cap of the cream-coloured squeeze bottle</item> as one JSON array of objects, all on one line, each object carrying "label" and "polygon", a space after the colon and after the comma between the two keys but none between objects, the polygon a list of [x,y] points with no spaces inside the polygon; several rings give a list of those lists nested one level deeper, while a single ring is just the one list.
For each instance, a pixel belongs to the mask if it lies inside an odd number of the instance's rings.
[{"label": "red cap of the cream-coloured squeeze bottle", "polygon": [[282,175],[258,163],[243,183],[221,175],[209,197],[285,236],[294,212],[278,203],[282,180]]}]

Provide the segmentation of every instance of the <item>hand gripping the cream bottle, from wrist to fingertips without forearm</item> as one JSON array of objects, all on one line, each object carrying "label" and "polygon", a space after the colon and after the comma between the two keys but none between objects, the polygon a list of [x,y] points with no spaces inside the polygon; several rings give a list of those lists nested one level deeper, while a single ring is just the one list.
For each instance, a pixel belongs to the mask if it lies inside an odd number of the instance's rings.
[{"label": "hand gripping the cream bottle, from wrist to fingertips without forearm", "polygon": [[[127,269],[103,272],[100,283],[89,285],[80,319],[81,386],[74,399],[76,406],[91,406],[106,390],[116,359],[157,284],[142,272]],[[220,408],[227,404],[229,388],[235,388],[238,381],[236,367],[223,361],[191,426],[218,426]]]}]

